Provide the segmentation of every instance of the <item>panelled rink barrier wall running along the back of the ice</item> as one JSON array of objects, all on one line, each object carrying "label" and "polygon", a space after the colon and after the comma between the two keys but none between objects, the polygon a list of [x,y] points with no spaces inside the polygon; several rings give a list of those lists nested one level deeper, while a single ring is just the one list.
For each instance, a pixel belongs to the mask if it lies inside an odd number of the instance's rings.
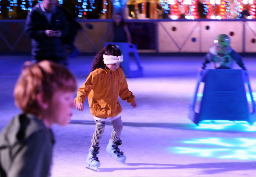
[{"label": "panelled rink barrier wall running along the back of the ice", "polygon": [[[111,40],[112,20],[77,20],[80,52],[98,52]],[[126,20],[140,52],[208,52],[216,35],[230,36],[237,52],[256,52],[256,20]],[[0,52],[30,52],[25,20],[0,20]]]}]

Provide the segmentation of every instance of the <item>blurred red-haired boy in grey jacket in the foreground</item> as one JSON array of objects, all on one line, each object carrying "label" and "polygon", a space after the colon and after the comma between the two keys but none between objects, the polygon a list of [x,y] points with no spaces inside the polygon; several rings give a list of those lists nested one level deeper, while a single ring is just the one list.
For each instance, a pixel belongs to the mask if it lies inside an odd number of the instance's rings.
[{"label": "blurred red-haired boy in grey jacket in the foreground", "polygon": [[70,122],[75,91],[67,68],[51,61],[26,64],[14,89],[22,113],[0,134],[0,176],[49,176],[55,142],[51,126]]}]

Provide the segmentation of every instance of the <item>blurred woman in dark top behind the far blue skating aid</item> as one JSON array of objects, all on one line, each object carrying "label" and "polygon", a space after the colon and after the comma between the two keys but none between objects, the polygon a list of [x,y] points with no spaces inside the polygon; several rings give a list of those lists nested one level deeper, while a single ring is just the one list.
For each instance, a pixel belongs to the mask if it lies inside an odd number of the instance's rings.
[{"label": "blurred woman in dark top behind the far blue skating aid", "polygon": [[131,43],[131,35],[121,14],[116,13],[113,16],[113,40],[112,42]]}]

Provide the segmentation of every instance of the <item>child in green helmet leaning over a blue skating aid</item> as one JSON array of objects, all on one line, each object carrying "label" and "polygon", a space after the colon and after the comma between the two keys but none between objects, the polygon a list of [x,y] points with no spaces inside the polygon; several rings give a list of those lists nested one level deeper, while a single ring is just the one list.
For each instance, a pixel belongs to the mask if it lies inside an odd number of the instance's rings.
[{"label": "child in green helmet leaning over a blue skating aid", "polygon": [[230,47],[228,35],[220,34],[214,39],[214,45],[209,48],[209,52],[204,56],[204,62],[199,71],[204,70],[208,63],[212,64],[212,69],[232,69],[234,61],[243,70],[246,70],[241,56]]}]

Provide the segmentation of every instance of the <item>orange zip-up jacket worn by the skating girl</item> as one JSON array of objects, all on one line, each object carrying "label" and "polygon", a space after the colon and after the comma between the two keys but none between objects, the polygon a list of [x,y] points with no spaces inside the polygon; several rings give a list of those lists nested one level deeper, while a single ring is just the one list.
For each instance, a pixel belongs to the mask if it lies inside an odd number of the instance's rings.
[{"label": "orange zip-up jacket worn by the skating girl", "polygon": [[76,103],[83,103],[88,96],[90,113],[96,117],[113,117],[122,111],[118,96],[128,103],[135,102],[135,96],[128,89],[125,74],[119,67],[115,71],[98,68],[92,71],[75,98]]}]

